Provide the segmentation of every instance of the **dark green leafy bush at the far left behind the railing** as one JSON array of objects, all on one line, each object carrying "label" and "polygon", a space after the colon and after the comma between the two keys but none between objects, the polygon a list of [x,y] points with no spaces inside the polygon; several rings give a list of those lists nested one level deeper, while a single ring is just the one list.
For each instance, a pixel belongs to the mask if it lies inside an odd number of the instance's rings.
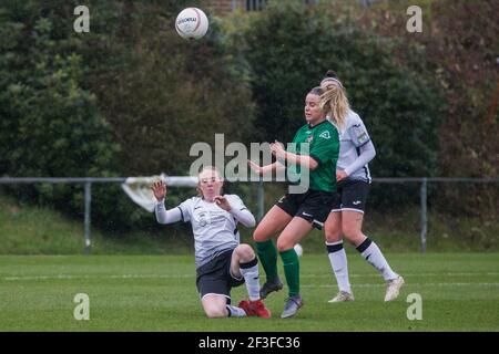
[{"label": "dark green leafy bush at the far left behind the railing", "polygon": [[[1,10],[0,175],[111,174],[119,146],[95,95],[81,84],[89,73],[81,43],[35,1],[6,2]],[[75,186],[23,186],[17,192],[70,212],[81,208]]]}]

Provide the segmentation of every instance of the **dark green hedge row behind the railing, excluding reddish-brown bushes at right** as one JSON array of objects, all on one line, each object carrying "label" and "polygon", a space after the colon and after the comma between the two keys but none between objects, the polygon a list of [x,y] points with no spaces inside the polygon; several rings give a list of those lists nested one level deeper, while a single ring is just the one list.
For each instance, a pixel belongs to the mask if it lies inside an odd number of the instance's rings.
[{"label": "dark green hedge row behind the railing, excluding reddish-brown bushes at right", "polygon": [[[442,100],[395,59],[394,40],[346,14],[271,1],[255,14],[211,18],[210,33],[186,42],[173,23],[187,1],[90,1],[91,32],[80,34],[72,30],[78,2],[0,6],[2,176],[185,175],[191,145],[212,143],[215,133],[226,143],[286,142],[327,69],[339,73],[369,129],[374,175],[435,173]],[[81,186],[13,192],[82,212]],[[106,229],[152,227],[118,186],[95,186],[92,208]]]}]

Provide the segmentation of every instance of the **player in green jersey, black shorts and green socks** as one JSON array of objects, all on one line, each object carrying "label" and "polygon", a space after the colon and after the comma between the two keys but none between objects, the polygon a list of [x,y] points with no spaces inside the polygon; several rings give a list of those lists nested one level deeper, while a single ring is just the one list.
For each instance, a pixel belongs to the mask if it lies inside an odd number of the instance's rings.
[{"label": "player in green jersey, black shorts and green socks", "polygon": [[[281,290],[283,283],[277,275],[277,252],[284,264],[288,285],[288,299],[281,317],[295,315],[303,305],[299,293],[299,261],[294,246],[314,227],[322,229],[336,197],[336,162],[339,154],[339,138],[335,126],[326,119],[320,101],[324,91],[313,88],[305,98],[306,125],[298,129],[292,146],[285,150],[279,143],[271,144],[277,162],[258,166],[248,162],[257,174],[288,170],[301,177],[308,177],[308,188],[302,192],[288,192],[265,215],[253,233],[258,258],[265,270],[266,282],[261,296]],[[303,184],[301,184],[303,185]],[[277,237],[277,247],[273,238]]]}]

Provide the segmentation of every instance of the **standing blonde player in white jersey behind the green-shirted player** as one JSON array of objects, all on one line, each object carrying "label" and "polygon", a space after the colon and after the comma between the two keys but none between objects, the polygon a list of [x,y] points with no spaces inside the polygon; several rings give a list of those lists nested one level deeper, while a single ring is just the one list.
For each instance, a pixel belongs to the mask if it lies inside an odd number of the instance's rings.
[{"label": "standing blonde player in white jersey behind the green-shirted player", "polygon": [[326,107],[329,114],[339,116],[337,112],[342,110],[347,112],[343,122],[329,116],[339,133],[339,157],[336,165],[338,199],[324,227],[329,261],[339,288],[338,294],[329,302],[354,300],[343,237],[346,237],[363,258],[381,273],[387,282],[385,301],[395,300],[404,284],[404,279],[391,270],[379,247],[361,231],[371,183],[368,163],[376,156],[375,147],[364,122],[350,110],[345,88],[336,73],[328,71],[320,86],[326,91],[325,100],[327,100],[328,90],[343,93],[342,100]]}]

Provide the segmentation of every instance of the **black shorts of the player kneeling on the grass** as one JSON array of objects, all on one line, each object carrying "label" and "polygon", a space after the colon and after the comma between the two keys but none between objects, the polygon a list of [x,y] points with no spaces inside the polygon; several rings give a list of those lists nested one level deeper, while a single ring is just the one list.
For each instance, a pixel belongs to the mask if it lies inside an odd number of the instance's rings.
[{"label": "black shorts of the player kneeling on the grass", "polygon": [[244,278],[235,278],[231,273],[232,252],[227,250],[206,264],[196,269],[196,287],[201,299],[207,294],[218,294],[227,298],[231,303],[231,288],[244,284]]}]

